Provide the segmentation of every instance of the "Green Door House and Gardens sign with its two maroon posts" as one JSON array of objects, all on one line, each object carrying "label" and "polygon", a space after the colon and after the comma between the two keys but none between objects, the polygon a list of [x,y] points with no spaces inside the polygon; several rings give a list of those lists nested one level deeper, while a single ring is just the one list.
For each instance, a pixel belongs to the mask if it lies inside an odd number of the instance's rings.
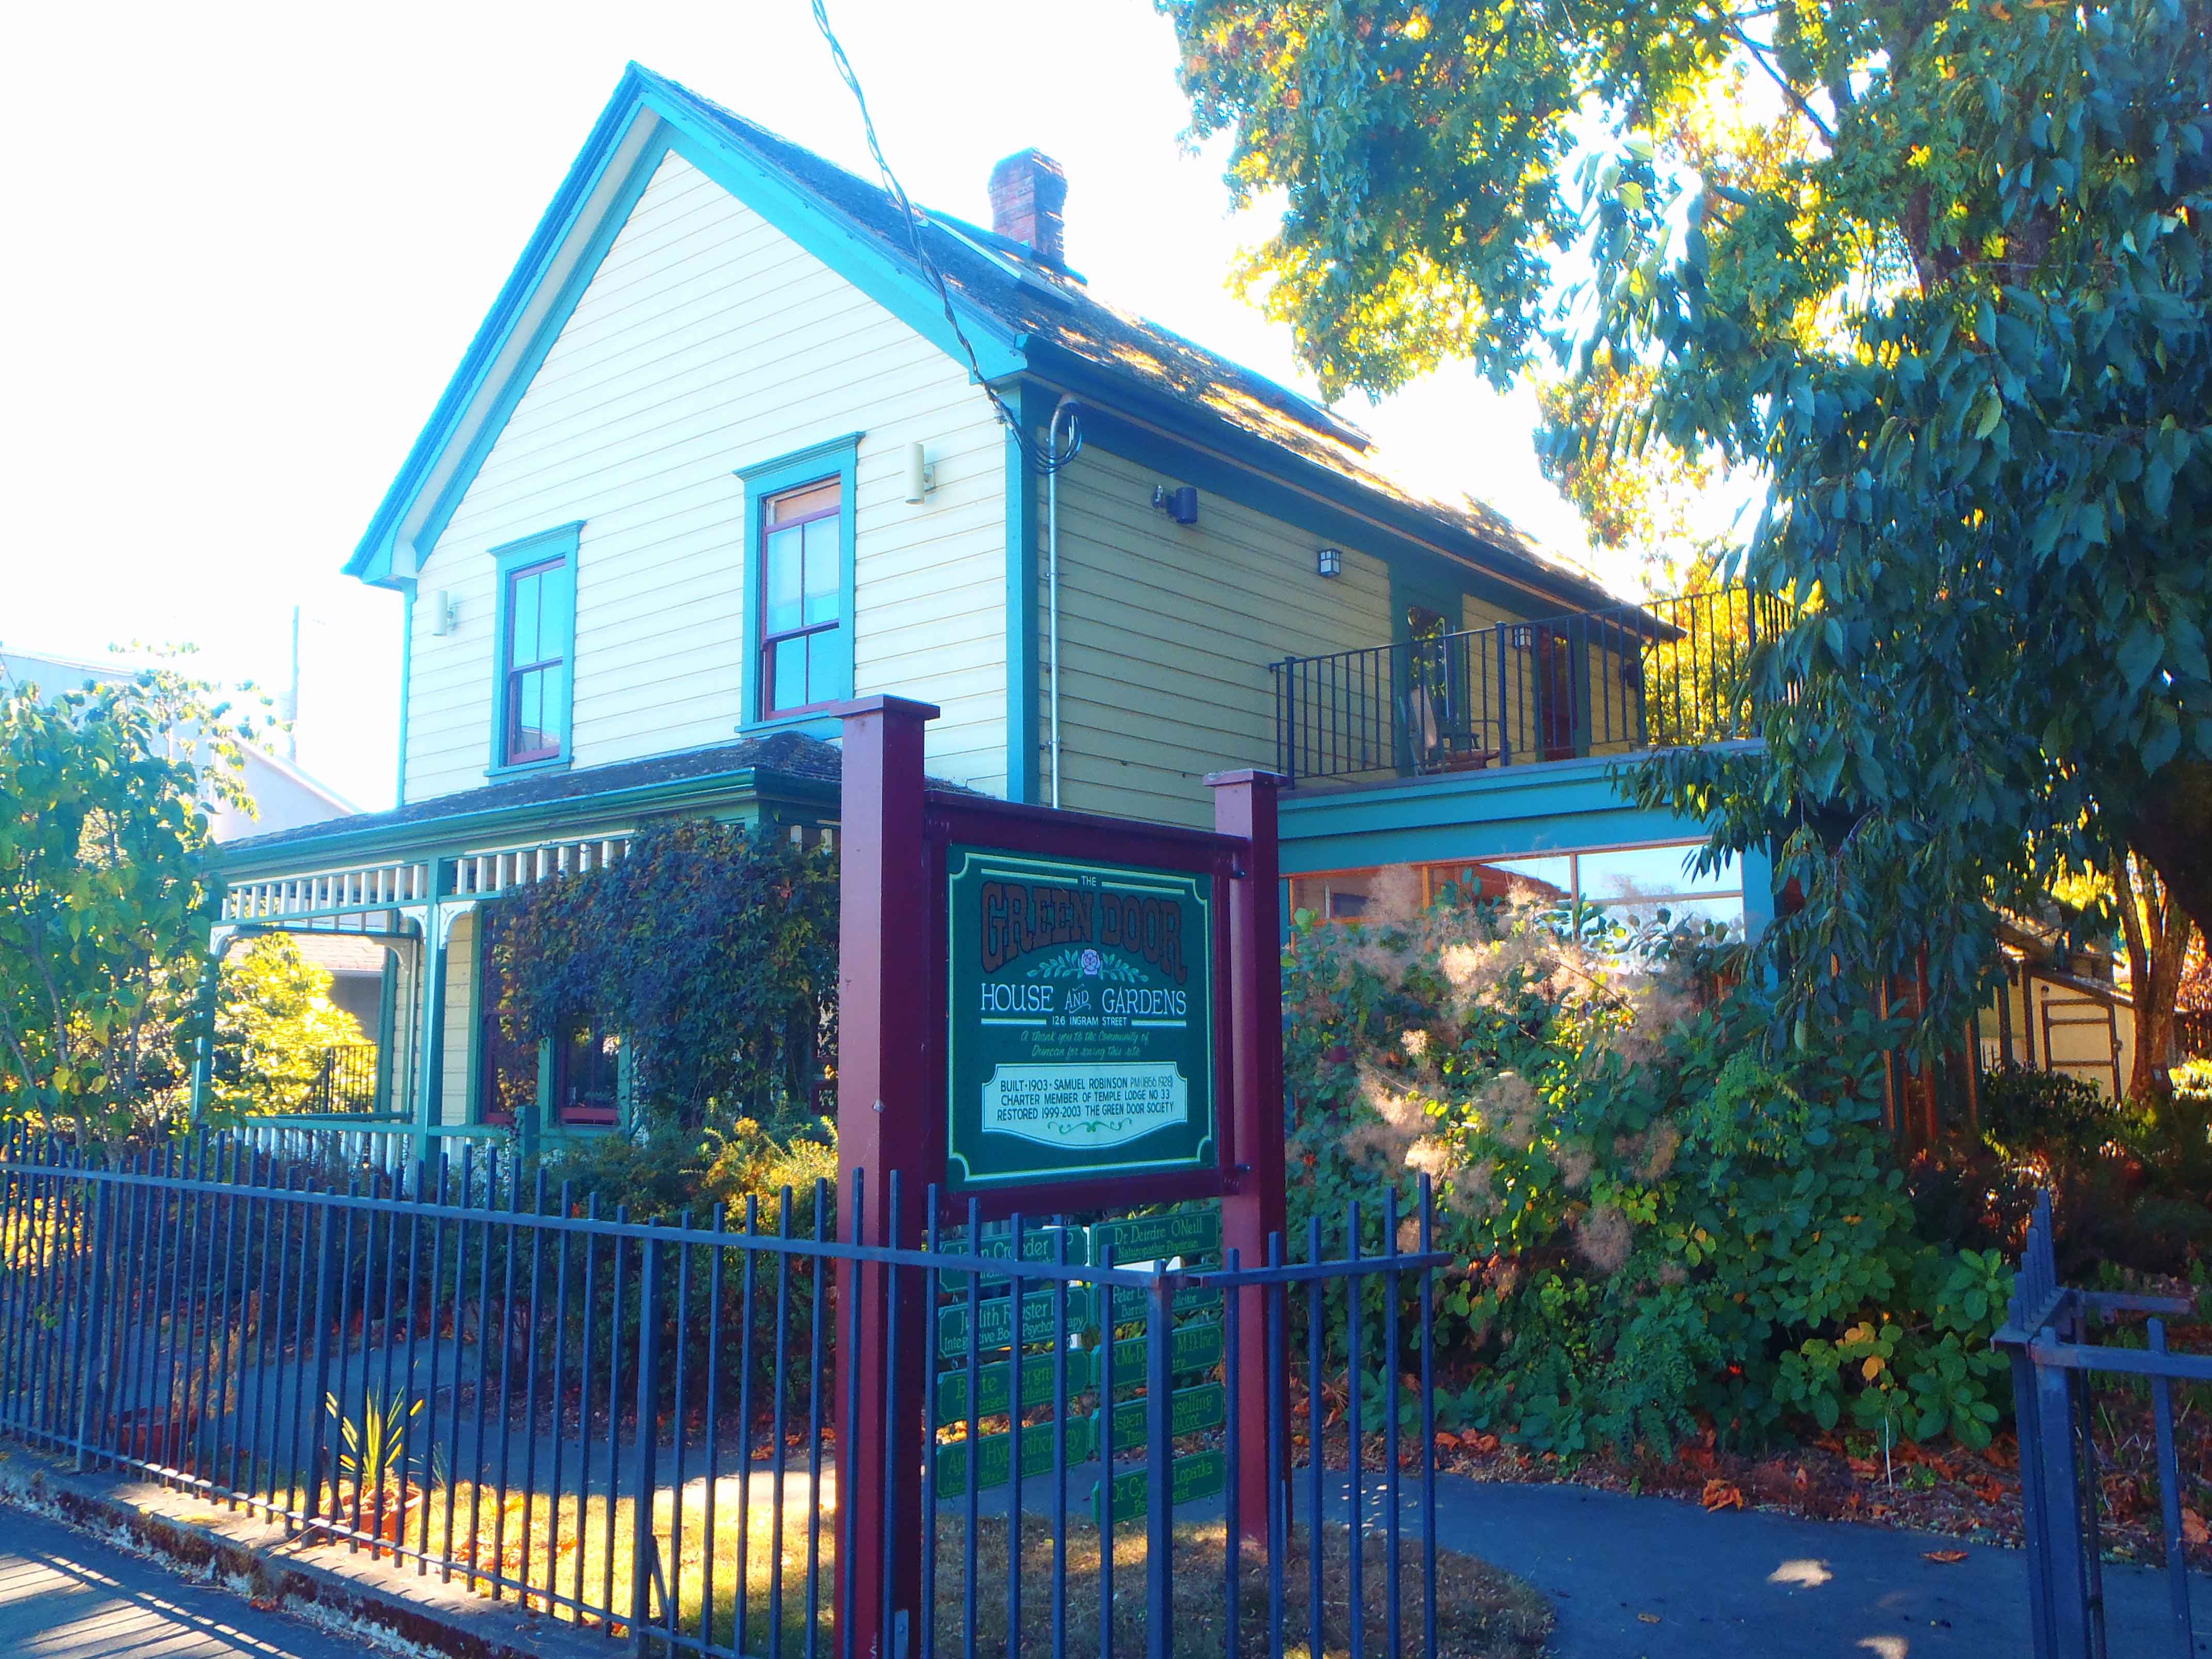
[{"label": "Green Door House and Gardens sign with its two maroon posts", "polygon": [[[933,1183],[945,1203],[940,1221],[949,1223],[964,1219],[971,1199],[987,1219],[998,1219],[1219,1197],[1223,1248],[1237,1250],[1245,1267],[1265,1265],[1267,1239],[1283,1230],[1285,1208],[1279,779],[1270,772],[1208,779],[1212,832],[1053,812],[929,790],[922,730],[938,710],[927,703],[869,697],[836,712],[845,719],[838,1234],[847,1243],[918,1248]],[[1022,885],[1029,878],[1018,872],[1037,872],[1033,885]],[[980,933],[978,916],[967,911],[956,927],[956,887],[978,900]],[[1166,931],[1170,925],[1177,931]],[[1095,933],[1086,931],[1093,927]],[[1113,933],[1115,927],[1121,931]],[[1020,929],[1024,949],[1051,947],[1079,962],[1073,971],[1086,978],[1108,967],[1102,958],[1121,938],[1121,984],[1097,993],[1099,1006],[1106,998],[1168,998],[1155,1011],[1175,1018],[1117,1022],[1119,1046],[1091,1062],[1091,1071],[1079,1026],[1099,1026],[1097,1020],[1068,1020],[1062,1035],[1024,1055],[973,1051],[973,1033],[960,1040],[962,1048],[951,1020],[958,978],[969,975],[967,991],[984,1000],[1042,998],[991,980],[1004,973],[1009,929]],[[1133,953],[1139,933],[1141,962]],[[978,962],[962,956],[956,964],[956,945],[973,945]],[[1186,975],[1190,960],[1212,964],[1203,975],[1210,984]],[[978,971],[982,980],[973,978]],[[1166,973],[1175,989],[1146,989],[1139,984],[1146,971]],[[1144,1026],[1144,1037],[1126,1035],[1128,1026]],[[1168,1026],[1183,1035],[1157,1035]],[[1175,1051],[1170,1042],[1183,1046]],[[1106,1113],[1121,1113],[1124,1128],[1093,1148],[1095,1168],[1086,1166],[1093,1152],[1068,1144],[1051,1150],[1035,1121],[1046,1108],[1033,1102],[1077,1075],[1091,1077],[1093,1088],[1124,1091],[1115,1095],[1121,1104]],[[971,1086],[978,1077],[989,1082]],[[987,1119],[969,1095],[989,1099]],[[1164,1128],[1152,1128],[1155,1121]],[[1170,1121],[1181,1137],[1166,1128]],[[960,1146],[951,1148],[956,1135]],[[1033,1150],[1040,1141],[1044,1155]],[[1137,1157],[1130,1150],[1137,1146],[1168,1148],[1170,1157]],[[998,1148],[1011,1150],[1000,1157]],[[865,1217],[856,1228],[852,1206],[863,1172]],[[894,1175],[896,1225],[887,1212]],[[925,1272],[894,1276],[876,1263],[838,1270],[838,1504],[852,1548],[852,1566],[838,1566],[838,1630],[852,1632],[852,1650],[863,1659],[905,1659],[918,1650],[920,1619],[929,1617],[920,1604],[929,1524],[922,1394],[936,1347],[929,1283]],[[1241,1318],[1239,1411],[1250,1425],[1267,1420],[1265,1318],[1256,1292]],[[1265,1455],[1248,1455],[1232,1475],[1250,1537],[1265,1537],[1270,1473]]]}]

